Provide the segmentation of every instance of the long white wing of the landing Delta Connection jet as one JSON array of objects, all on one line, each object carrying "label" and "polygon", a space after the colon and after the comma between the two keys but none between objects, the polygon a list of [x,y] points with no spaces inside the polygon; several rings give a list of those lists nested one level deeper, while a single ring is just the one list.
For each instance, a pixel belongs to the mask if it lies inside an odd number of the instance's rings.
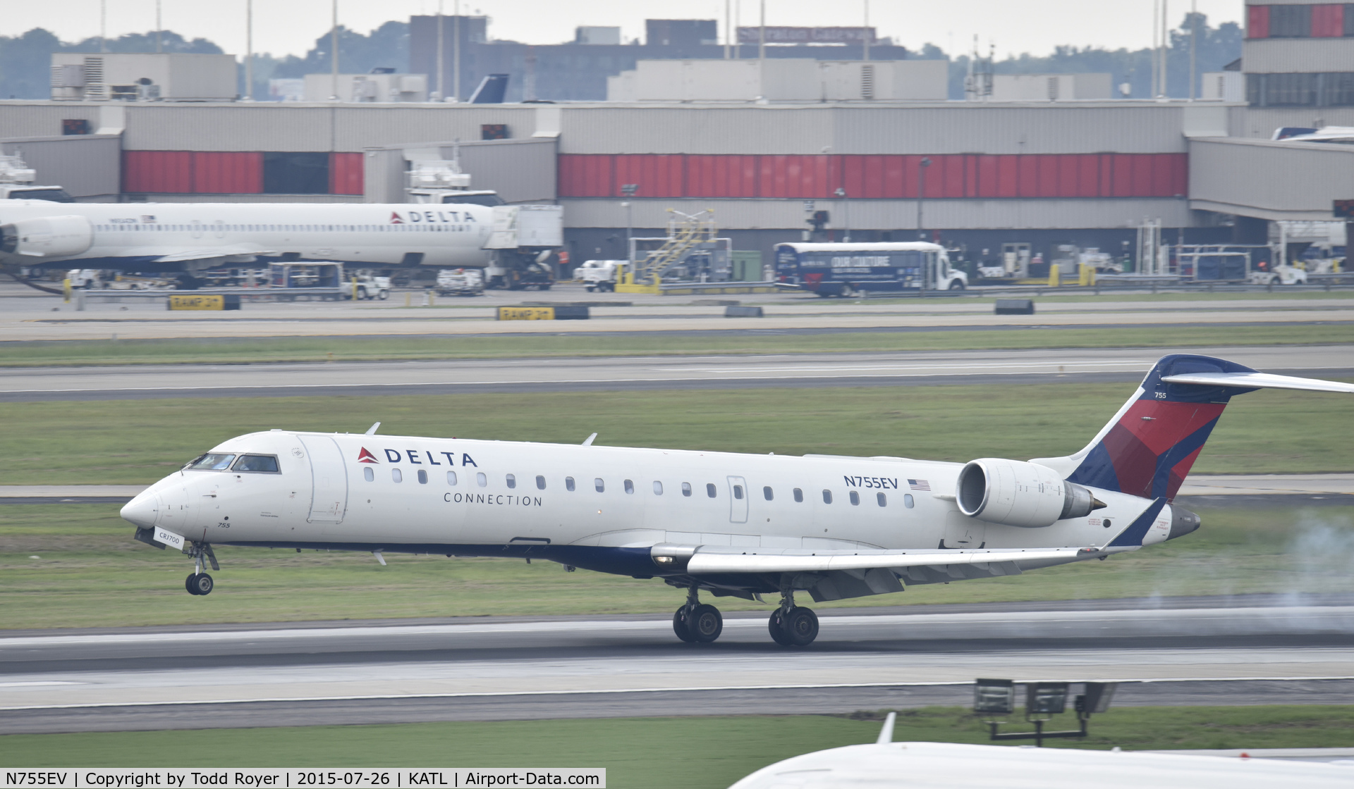
[{"label": "long white wing of the landing Delta Connection jet", "polygon": [[[662,545],[654,548],[662,555]],[[691,575],[722,572],[827,572],[833,570],[873,570],[887,567],[927,567],[945,564],[988,564],[1001,562],[1043,562],[1078,559],[1098,554],[1098,548],[991,548],[976,551],[815,551],[731,554],[697,548],[686,560]]]}]

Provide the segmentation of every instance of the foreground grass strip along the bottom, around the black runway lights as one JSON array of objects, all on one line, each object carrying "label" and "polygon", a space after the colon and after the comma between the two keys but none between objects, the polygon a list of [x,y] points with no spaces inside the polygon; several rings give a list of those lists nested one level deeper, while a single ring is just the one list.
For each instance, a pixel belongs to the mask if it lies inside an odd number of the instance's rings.
[{"label": "foreground grass strip along the bottom, around the black runway lights", "polygon": [[[0,736],[23,767],[605,767],[608,786],[720,789],[766,765],[872,743],[879,713],[630,717]],[[1066,717],[1066,716],[1064,716]],[[1347,747],[1354,706],[1121,706],[1086,740],[1108,750]],[[895,742],[987,743],[965,709],[900,711]]]}]

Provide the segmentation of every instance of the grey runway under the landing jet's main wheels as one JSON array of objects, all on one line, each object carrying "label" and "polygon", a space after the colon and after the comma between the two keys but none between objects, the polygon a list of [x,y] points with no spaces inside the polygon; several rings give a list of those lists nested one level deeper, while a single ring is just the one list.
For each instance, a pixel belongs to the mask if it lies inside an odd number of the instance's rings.
[{"label": "grey runway under the landing jet's main wheels", "polygon": [[761,613],[707,646],[646,616],[12,633],[0,732],[848,712],[965,704],[976,677],[1127,682],[1116,704],[1349,704],[1351,602],[823,612],[800,651]]}]

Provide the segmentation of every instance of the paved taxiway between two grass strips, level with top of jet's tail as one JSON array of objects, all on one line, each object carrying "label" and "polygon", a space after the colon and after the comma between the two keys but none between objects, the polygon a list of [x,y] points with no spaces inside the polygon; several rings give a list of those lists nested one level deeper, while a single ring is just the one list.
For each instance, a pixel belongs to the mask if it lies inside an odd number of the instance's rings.
[{"label": "paved taxiway between two grass strips, level with top of jet's tail", "polygon": [[[1221,356],[1266,372],[1319,378],[1354,375],[1354,359],[1345,345],[1190,348],[1177,352]],[[1155,348],[1106,348],[9,368],[0,376],[0,402],[768,386],[1136,383],[1162,353]]]}]

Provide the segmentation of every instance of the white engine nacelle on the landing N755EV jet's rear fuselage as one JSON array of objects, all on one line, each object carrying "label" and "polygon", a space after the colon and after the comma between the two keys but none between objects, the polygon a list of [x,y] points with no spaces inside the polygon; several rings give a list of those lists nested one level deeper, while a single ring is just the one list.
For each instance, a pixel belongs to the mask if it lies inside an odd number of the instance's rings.
[{"label": "white engine nacelle on the landing N755EV jet's rear fuselage", "polygon": [[1091,491],[1037,463],[979,457],[959,472],[959,510],[990,524],[1051,526],[1105,506]]}]

